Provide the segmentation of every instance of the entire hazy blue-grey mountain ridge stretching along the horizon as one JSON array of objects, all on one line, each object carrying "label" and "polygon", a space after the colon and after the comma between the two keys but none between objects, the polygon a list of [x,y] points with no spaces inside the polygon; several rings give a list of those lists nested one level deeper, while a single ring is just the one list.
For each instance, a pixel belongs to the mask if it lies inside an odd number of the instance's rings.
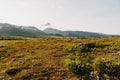
[{"label": "entire hazy blue-grey mountain ridge stretching along the horizon", "polygon": [[112,36],[103,33],[87,31],[62,31],[54,28],[40,30],[34,26],[17,26],[8,23],[0,23],[0,35],[40,37],[40,36],[60,36],[60,37],[105,37]]}]

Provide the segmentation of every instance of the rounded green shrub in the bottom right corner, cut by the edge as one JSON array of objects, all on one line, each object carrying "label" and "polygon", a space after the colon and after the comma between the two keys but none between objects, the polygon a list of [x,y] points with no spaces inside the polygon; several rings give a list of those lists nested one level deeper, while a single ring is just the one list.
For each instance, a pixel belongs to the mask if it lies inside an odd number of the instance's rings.
[{"label": "rounded green shrub in the bottom right corner, cut by the edge", "polygon": [[111,79],[120,79],[120,62],[114,60],[105,60],[104,58],[96,59],[94,62],[96,70],[98,70],[99,77],[104,78],[104,75],[109,76]]}]

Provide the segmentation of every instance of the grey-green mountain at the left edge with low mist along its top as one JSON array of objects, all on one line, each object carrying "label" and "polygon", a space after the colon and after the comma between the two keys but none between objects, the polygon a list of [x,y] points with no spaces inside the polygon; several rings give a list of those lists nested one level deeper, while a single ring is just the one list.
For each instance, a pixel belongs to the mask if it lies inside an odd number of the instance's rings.
[{"label": "grey-green mountain at the left edge with low mist along its top", "polygon": [[39,37],[47,35],[45,32],[33,26],[16,26],[8,23],[0,23],[0,35]]}]

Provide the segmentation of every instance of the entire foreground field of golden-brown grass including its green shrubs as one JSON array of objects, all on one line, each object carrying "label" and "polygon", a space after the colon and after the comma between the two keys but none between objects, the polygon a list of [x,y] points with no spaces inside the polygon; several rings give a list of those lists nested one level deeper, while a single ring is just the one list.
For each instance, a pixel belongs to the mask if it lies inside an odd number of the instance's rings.
[{"label": "entire foreground field of golden-brown grass including its green shrubs", "polygon": [[120,80],[120,37],[0,40],[0,80]]}]

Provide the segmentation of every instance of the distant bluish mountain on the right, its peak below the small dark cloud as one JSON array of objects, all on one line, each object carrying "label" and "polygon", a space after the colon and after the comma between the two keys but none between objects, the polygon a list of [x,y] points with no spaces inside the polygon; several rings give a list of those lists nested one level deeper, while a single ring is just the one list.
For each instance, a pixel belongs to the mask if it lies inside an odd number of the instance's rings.
[{"label": "distant bluish mountain on the right, its peak below the small dark cloud", "polygon": [[61,31],[53,28],[47,28],[43,30],[47,34],[59,34],[64,37],[104,37],[106,34],[86,32],[86,31]]}]

